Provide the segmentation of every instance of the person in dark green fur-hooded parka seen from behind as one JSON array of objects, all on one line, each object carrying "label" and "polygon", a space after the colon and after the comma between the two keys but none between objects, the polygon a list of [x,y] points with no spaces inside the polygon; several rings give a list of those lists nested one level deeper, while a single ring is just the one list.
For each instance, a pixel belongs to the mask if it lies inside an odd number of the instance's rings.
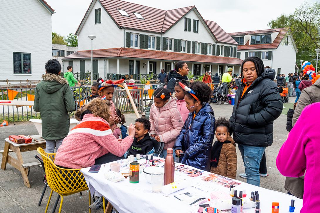
[{"label": "person in dark green fur-hooded parka seen from behind", "polygon": [[43,80],[36,86],[33,110],[40,112],[46,152],[53,153],[54,148],[58,150],[69,133],[68,112],[75,110],[76,103],[68,82],[59,76],[61,72],[59,61],[49,60],[45,64],[45,72],[46,74],[42,75]]}]

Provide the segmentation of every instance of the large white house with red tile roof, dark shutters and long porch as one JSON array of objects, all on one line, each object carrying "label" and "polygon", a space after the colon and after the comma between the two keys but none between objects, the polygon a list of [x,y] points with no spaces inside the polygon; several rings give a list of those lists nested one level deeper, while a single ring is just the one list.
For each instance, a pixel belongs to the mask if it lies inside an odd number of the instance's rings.
[{"label": "large white house with red tile roof, dark shutters and long porch", "polygon": [[78,51],[63,59],[63,70],[73,64],[74,72],[90,72],[88,36],[94,35],[93,73],[101,78],[169,72],[177,61],[186,61],[194,75],[208,70],[222,74],[228,67],[238,74],[242,63],[236,58],[238,43],[217,23],[204,20],[195,6],[165,11],[120,0],[92,0],[76,35]]}]

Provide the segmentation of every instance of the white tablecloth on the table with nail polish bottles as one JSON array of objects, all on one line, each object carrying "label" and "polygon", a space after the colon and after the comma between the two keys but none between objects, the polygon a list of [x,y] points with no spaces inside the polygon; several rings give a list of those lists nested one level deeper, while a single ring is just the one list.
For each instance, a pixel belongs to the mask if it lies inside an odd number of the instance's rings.
[{"label": "white tablecloth on the table with nail polish bottles", "polygon": [[[140,164],[145,160],[140,160]],[[159,164],[163,166],[164,163]],[[176,168],[178,165],[176,163]],[[126,167],[126,166],[124,166]],[[193,167],[185,166],[184,168],[196,169]],[[110,167],[109,163],[102,165],[98,173],[89,173],[90,168],[83,168],[81,172],[84,174],[87,184],[91,193],[96,193],[96,195],[102,195],[120,212],[156,212],[156,213],[168,213],[168,212],[197,212],[197,209],[193,209],[190,205],[179,201],[174,195],[182,193],[197,193],[207,198],[211,198],[211,194],[217,195],[221,192],[228,193],[228,182],[231,184],[239,184],[235,187],[238,191],[246,190],[247,197],[251,196],[252,191],[259,191],[260,195],[260,209],[262,212],[271,212],[272,202],[279,202],[279,212],[288,212],[291,200],[295,200],[295,212],[300,212],[302,208],[302,200],[291,195],[284,193],[271,191],[265,188],[257,187],[251,184],[246,184],[244,182],[229,179],[223,176],[212,175],[212,173],[202,171],[202,175],[197,177],[188,176],[187,171],[175,172],[175,181],[183,178],[192,178],[192,186],[182,189],[176,193],[172,193],[168,196],[163,193],[153,193],[151,190],[151,184],[147,182],[140,167],[140,182],[137,184],[129,183],[129,178],[124,179],[121,182],[111,182],[104,177],[104,173],[108,172]],[[198,170],[198,169],[196,169]],[[122,168],[121,172],[128,173],[128,168]],[[180,170],[181,171],[181,170]],[[201,174],[196,173],[196,174]],[[194,175],[196,176],[196,175]],[[207,177],[207,178],[205,178]],[[206,182],[203,179],[209,181]],[[216,179],[213,179],[216,178]],[[212,180],[211,180],[212,179]],[[225,184],[225,186],[223,186]],[[231,199],[231,197],[230,197]],[[231,211],[224,211],[231,212]],[[244,209],[244,213],[254,212],[254,209]]]}]

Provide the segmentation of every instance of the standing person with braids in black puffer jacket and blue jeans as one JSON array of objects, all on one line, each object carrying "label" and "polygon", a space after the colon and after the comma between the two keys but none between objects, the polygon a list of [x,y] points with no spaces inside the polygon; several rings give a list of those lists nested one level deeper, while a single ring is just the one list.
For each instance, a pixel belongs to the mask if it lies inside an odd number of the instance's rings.
[{"label": "standing person with braids in black puffer jacket and blue jeans", "polygon": [[260,58],[246,58],[241,70],[242,84],[236,92],[230,132],[242,159],[246,159],[247,183],[259,186],[260,161],[266,147],[273,142],[273,121],[280,116],[283,103],[273,81],[276,71],[265,69]]}]

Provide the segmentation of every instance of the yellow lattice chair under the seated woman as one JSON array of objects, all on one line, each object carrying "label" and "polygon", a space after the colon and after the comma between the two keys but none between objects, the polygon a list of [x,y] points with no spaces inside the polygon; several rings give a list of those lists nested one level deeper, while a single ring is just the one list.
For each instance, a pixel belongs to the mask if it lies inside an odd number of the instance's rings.
[{"label": "yellow lattice chair under the seated woman", "polygon": [[[37,152],[42,156],[44,162],[45,176],[47,183],[51,188],[50,197],[47,203],[45,212],[47,212],[49,203],[52,197],[52,192],[56,192],[61,196],[59,213],[62,209],[63,196],[82,192],[88,190],[88,186],[85,182],[84,176],[80,172],[80,169],[65,169],[57,167],[52,160],[55,158],[56,153],[46,153],[39,147]],[[91,204],[91,194],[89,191],[89,205]],[[91,209],[89,208],[91,213]]]}]

